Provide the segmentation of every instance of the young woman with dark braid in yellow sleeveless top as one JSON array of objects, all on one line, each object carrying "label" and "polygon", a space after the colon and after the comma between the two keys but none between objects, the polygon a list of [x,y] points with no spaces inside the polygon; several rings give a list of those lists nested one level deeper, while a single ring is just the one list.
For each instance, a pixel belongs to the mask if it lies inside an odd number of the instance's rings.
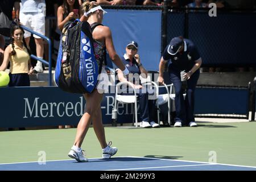
[{"label": "young woman with dark braid in yellow sleeveless top", "polygon": [[31,51],[24,39],[24,30],[17,24],[11,27],[11,44],[6,47],[0,71],[5,71],[10,61],[9,86],[30,86],[33,68]]}]

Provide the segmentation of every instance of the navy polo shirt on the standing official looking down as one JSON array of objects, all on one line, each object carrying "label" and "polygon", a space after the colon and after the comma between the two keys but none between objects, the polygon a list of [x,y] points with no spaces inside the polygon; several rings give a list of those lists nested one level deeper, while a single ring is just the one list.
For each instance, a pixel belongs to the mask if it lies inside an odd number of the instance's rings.
[{"label": "navy polo shirt on the standing official looking down", "polygon": [[195,61],[200,59],[200,54],[191,40],[184,39],[184,51],[183,53],[176,53],[176,55],[170,55],[168,53],[168,47],[166,47],[163,53],[163,59],[168,60],[168,68],[178,69],[180,71],[189,71],[194,65]]}]

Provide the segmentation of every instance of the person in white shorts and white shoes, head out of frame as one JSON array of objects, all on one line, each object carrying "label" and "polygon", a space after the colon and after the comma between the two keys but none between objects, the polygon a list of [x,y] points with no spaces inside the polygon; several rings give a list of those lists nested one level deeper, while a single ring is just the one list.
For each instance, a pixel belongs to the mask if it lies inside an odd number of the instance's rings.
[{"label": "person in white shorts and white shoes, head out of frame", "polygon": [[[45,17],[46,17],[46,2],[44,0],[21,0],[22,7],[20,9],[19,19],[25,27],[45,35]],[[31,33],[25,31],[24,38],[29,45]],[[44,43],[43,39],[37,35],[33,35],[36,43],[36,56],[43,59]],[[41,61],[37,61],[34,71],[43,72]]]}]

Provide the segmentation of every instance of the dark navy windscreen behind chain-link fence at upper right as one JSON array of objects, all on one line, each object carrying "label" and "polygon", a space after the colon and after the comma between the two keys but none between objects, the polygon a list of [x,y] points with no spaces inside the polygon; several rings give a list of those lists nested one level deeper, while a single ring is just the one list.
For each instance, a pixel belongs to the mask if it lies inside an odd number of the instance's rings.
[{"label": "dark navy windscreen behind chain-link fence at upper right", "polygon": [[255,64],[255,14],[190,13],[188,37],[199,49],[203,64]]}]

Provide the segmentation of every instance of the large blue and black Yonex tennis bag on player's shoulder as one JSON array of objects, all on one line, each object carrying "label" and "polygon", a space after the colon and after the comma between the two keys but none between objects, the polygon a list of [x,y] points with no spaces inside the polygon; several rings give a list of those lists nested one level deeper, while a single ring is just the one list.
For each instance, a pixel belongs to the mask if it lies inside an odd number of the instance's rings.
[{"label": "large blue and black Yonex tennis bag on player's shoulder", "polygon": [[65,92],[92,93],[101,65],[94,56],[90,24],[79,19],[65,23],[55,68],[56,85]]}]

